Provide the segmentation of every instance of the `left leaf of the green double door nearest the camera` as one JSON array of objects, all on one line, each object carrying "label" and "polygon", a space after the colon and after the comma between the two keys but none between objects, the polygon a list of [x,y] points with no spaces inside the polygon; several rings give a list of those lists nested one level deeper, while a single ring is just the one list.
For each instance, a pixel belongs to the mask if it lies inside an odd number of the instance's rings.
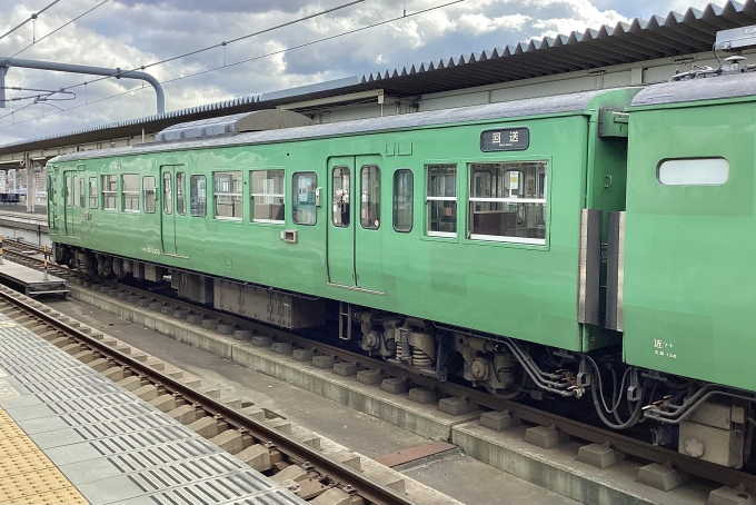
[{"label": "left leaf of the green double door nearest the camera", "polygon": [[328,161],[328,281],[339,286],[357,286],[355,276],[355,157],[330,158]]}]

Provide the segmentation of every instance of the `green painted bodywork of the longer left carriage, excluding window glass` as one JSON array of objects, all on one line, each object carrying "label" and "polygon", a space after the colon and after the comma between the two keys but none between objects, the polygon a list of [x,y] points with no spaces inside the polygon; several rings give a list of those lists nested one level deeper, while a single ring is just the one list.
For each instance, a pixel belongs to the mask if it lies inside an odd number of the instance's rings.
[{"label": "green painted bodywork of the longer left carriage, excluding window glass", "polygon": [[[607,91],[598,95],[586,111],[550,117],[87,160],[88,177],[139,172],[160,180],[158,170],[163,165],[183,165],[187,179],[203,174],[208,180],[209,216],[173,216],[176,247],[181,257],[160,254],[166,234],[165,222],[161,228],[160,195],[156,214],[91,210],[91,219],[80,222],[77,238],[66,236],[60,227],[53,228],[51,237],[57,242],[122,257],[570,350],[607,345],[614,340],[603,331],[584,331],[577,323],[580,210],[586,205],[606,210],[624,205],[625,143],[598,139],[596,120],[600,107],[621,109],[634,95],[635,90],[629,89]],[[507,127],[529,128],[529,148],[481,152],[481,131]],[[465,232],[467,164],[513,160],[548,162],[545,246],[472,240]],[[426,234],[425,165],[435,162],[458,165],[456,238]],[[56,165],[54,160],[51,165]],[[69,165],[54,171],[56,187],[60,186],[61,170],[68,170]],[[360,226],[357,198],[350,209],[350,228],[331,225],[331,168],[339,165],[351,170],[354,195],[362,189],[360,167],[380,167],[379,229]],[[287,181],[286,224],[251,222],[250,170],[281,167]],[[398,232],[391,215],[394,172],[406,168],[414,172],[414,224],[411,231]],[[212,218],[211,181],[216,170],[242,170],[243,221]],[[317,222],[296,225],[290,211],[291,177],[310,170],[317,172],[317,186],[321,188]],[[605,175],[613,177],[608,187]],[[64,202],[59,192],[54,198],[56,215],[51,218],[57,221]],[[298,231],[297,244],[281,240],[285,229]],[[329,270],[332,284],[382,294],[331,286]]]}]

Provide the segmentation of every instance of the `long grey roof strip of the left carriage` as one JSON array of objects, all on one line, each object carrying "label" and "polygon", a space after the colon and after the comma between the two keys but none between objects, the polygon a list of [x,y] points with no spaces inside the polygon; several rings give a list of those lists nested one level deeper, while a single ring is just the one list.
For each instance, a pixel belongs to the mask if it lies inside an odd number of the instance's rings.
[{"label": "long grey roof strip of the left carriage", "polygon": [[406,113],[384,118],[339,121],[326,125],[287,128],[280,130],[253,131],[236,135],[233,137],[212,138],[207,140],[178,141],[171,143],[145,143],[132,147],[72,152],[70,155],[62,155],[52,158],[49,162],[110,158],[116,156],[140,155],[145,152],[227,147],[245,143],[280,142],[287,140],[369,133],[374,131],[419,128],[436,125],[441,126],[469,121],[509,119],[524,116],[579,112],[587,109],[590,100],[606,92],[606,90],[583,91],[578,93],[557,95],[554,97],[529,98],[525,100],[486,103],[483,106],[460,107],[428,112]]}]

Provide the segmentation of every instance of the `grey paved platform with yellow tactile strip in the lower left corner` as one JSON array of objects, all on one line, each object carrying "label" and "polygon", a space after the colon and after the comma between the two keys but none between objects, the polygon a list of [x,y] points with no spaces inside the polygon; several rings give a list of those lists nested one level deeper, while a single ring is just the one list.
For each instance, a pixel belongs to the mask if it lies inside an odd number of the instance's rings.
[{"label": "grey paved platform with yellow tactile strip in the lower left corner", "polygon": [[1,314],[0,377],[0,503],[306,503]]}]

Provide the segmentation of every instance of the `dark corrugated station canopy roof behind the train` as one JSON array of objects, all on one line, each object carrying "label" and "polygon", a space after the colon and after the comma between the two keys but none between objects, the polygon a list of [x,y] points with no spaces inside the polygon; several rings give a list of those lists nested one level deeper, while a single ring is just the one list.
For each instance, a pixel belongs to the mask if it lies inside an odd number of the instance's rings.
[{"label": "dark corrugated station canopy roof behind the train", "polygon": [[137,136],[141,135],[142,129],[151,133],[177,122],[271,109],[295,101],[371,89],[384,89],[391,97],[415,97],[705,52],[712,50],[717,31],[754,23],[756,0],[746,0],[743,3],[728,1],[724,7],[708,4],[704,10],[690,8],[685,13],[669,12],[666,17],[654,16],[649,20],[634,19],[616,27],[605,26],[581,33],[574,31],[570,34],[397,67],[382,72],[22,140],[0,146],[0,155],[20,149],[34,150],[61,143]]}]

